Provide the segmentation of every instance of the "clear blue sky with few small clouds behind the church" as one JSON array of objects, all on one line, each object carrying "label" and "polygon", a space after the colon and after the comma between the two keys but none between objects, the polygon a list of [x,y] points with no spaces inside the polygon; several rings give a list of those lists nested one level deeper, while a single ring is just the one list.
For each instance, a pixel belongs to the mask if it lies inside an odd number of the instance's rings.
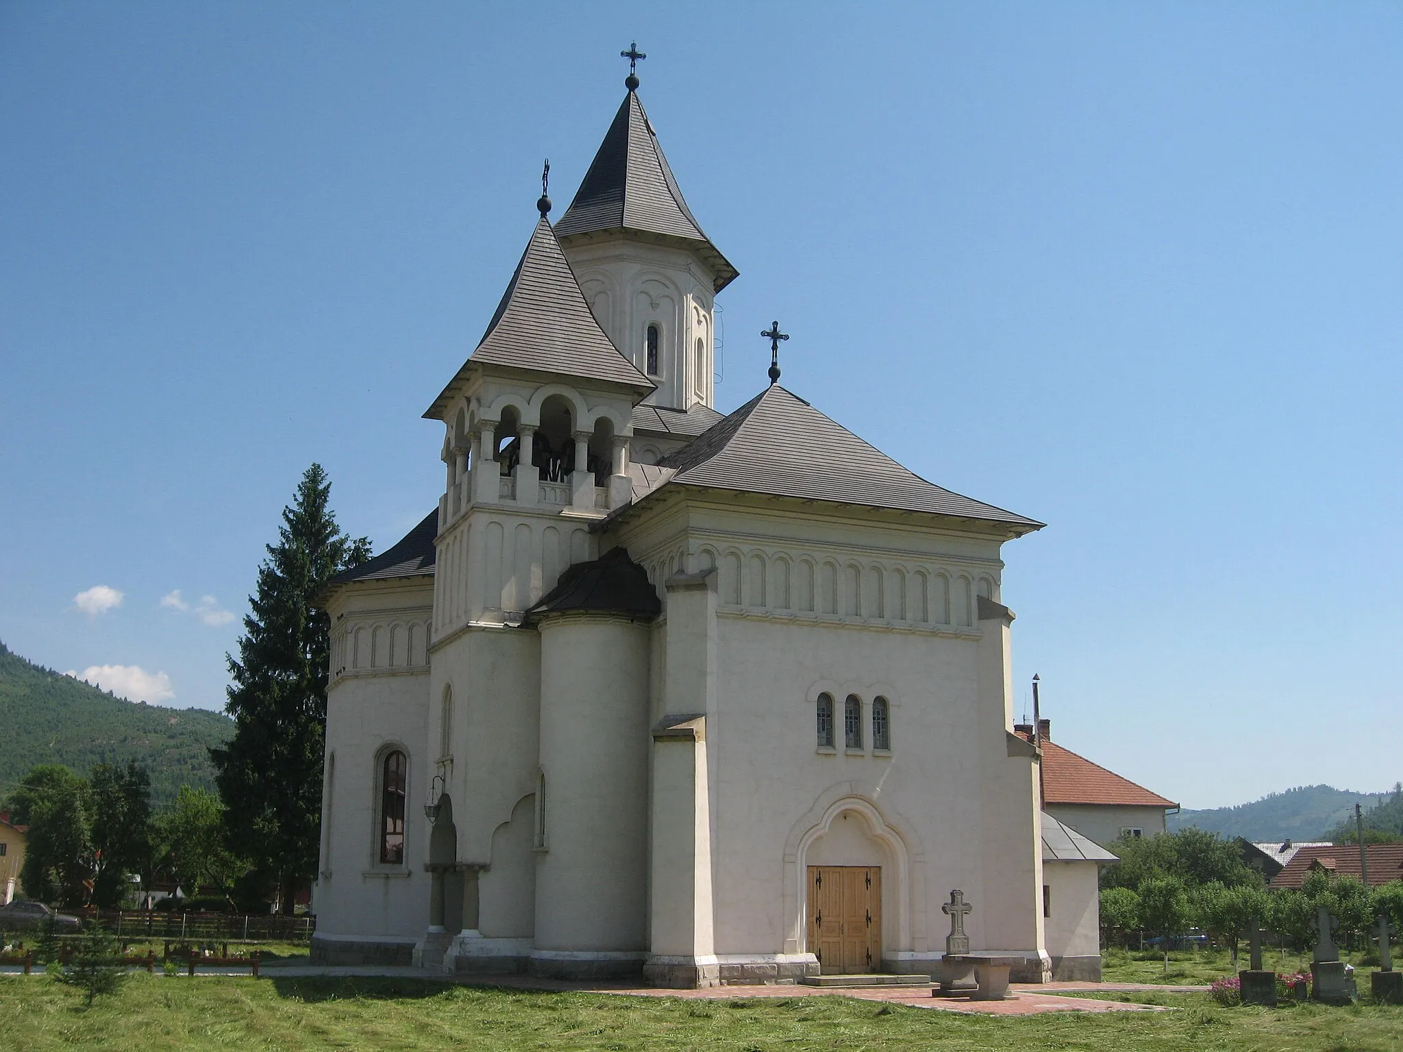
[{"label": "clear blue sky with few small clouds behind the church", "polygon": [[434,508],[419,414],[634,38],[741,271],[718,407],[777,317],[786,386],[1049,523],[1020,707],[1186,807],[1403,777],[1388,3],[3,4],[0,640],[219,707],[309,463],[376,550]]}]

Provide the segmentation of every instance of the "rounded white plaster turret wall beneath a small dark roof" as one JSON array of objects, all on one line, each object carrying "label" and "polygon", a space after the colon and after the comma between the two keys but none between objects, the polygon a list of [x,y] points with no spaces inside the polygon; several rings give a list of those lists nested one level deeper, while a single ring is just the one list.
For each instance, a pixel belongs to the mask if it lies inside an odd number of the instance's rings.
[{"label": "rounded white plaster turret wall beneath a small dark roof", "polygon": [[647,950],[648,630],[565,614],[540,637],[536,948]]}]

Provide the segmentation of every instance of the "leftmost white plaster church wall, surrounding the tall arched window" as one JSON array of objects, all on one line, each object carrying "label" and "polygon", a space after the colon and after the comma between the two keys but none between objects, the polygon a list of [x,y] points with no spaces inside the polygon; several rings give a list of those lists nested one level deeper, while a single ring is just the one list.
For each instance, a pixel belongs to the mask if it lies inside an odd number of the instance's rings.
[{"label": "leftmost white plaster church wall, surrounding the tall arched window", "polygon": [[[427,628],[429,588],[427,578],[344,588],[328,603],[334,634],[348,638],[356,627],[384,624]],[[405,654],[404,665],[344,669],[327,690],[321,861],[314,889],[321,934],[412,938],[428,916],[428,875],[417,860],[428,842],[418,802],[431,777],[425,748],[429,669],[427,655]],[[391,745],[408,757],[404,865],[379,861],[376,767]]]}]

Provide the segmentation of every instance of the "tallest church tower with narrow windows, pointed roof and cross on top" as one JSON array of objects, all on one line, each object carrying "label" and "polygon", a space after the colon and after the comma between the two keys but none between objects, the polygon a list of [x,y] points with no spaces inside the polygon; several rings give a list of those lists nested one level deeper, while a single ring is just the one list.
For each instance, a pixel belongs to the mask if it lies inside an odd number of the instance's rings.
[{"label": "tallest church tower with narrow windows, pointed roof and cross on top", "polygon": [[713,407],[716,293],[737,269],[702,231],[638,101],[624,97],[556,236],[609,338],[657,384],[648,404]]}]

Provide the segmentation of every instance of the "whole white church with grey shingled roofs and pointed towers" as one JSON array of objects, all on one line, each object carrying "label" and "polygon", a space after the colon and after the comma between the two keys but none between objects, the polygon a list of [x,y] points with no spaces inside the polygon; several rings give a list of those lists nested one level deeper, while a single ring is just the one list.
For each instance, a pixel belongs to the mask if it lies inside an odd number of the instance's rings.
[{"label": "whole white church with grey shingled roofs and pointed towers", "polygon": [[1014,734],[1000,547],[1041,523],[912,474],[777,369],[713,408],[737,269],[626,84],[424,414],[438,508],[324,596],[314,959],[932,972],[958,888],[974,955],[1099,976],[1111,856],[1042,814]]}]

